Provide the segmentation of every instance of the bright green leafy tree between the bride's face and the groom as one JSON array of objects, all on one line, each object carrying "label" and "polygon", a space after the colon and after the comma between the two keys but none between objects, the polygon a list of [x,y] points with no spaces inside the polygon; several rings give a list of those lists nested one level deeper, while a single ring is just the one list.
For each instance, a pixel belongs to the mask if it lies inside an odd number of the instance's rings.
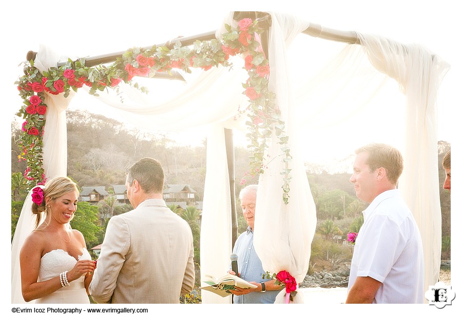
[{"label": "bright green leafy tree between the bride's face and the groom", "polygon": [[87,244],[96,241],[97,233],[101,230],[98,225],[98,207],[88,202],[78,202],[71,226],[82,232]]}]

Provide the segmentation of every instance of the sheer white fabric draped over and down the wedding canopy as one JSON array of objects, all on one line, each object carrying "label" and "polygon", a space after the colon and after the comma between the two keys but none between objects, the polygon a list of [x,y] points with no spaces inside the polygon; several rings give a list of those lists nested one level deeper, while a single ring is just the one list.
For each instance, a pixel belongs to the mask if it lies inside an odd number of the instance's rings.
[{"label": "sheer white fabric draped over and down the wedding canopy", "polygon": [[[389,141],[391,145],[402,149],[405,159],[399,189],[412,209],[422,235],[425,287],[436,283],[441,249],[436,96],[439,83],[449,66],[424,47],[404,45],[381,36],[358,34],[361,46],[335,43],[333,50],[341,49],[340,53],[322,67],[310,60],[309,51],[294,51],[300,42],[313,40],[300,34],[309,23],[290,15],[273,12],[271,15],[269,86],[277,95],[278,106],[286,122],[286,133],[290,137],[293,178],[289,203],[284,205],[282,178],[279,174],[283,165],[279,159],[276,157],[260,176],[254,243],[263,268],[271,273],[287,270],[301,282],[309,266],[316,213],[301,150],[310,146],[315,139],[322,140],[323,130],[336,125],[354,126],[356,132],[363,133],[368,133],[367,126],[382,128],[384,134],[388,133],[389,128],[402,128],[405,143],[401,143],[401,139]],[[236,25],[232,16],[233,12],[225,17],[224,23]],[[222,31],[223,28],[217,31],[218,38]],[[313,50],[316,50],[316,46]],[[58,58],[48,48],[41,47],[36,65],[43,65],[40,69],[44,70],[55,65]],[[295,69],[294,58],[299,61]],[[136,78],[141,85],[156,92],[146,95],[122,84],[123,103],[114,91],[101,92],[98,96],[100,101],[112,106],[114,110],[123,111],[127,121],[135,122],[143,128],[180,130],[209,126],[201,226],[203,275],[226,272],[231,252],[231,205],[223,127],[245,130],[243,126],[246,117],[235,120],[234,116],[238,107],[243,109],[247,104],[241,85],[247,80],[245,70],[241,69],[243,62],[239,57],[233,58],[232,62],[233,69],[220,66],[206,72],[185,74],[187,83],[178,86],[175,95],[166,94],[162,88],[156,89],[156,86],[169,83]],[[316,67],[318,69],[314,72]],[[295,81],[293,77],[296,72],[306,73],[306,76],[303,80]],[[392,92],[400,95],[401,91],[405,97],[401,108],[399,102],[382,103],[383,95],[391,93],[387,85],[388,77],[394,78],[399,85],[399,89],[395,87]],[[66,175],[65,109],[70,97],[50,97],[52,100],[47,100],[49,108],[44,134],[44,166],[47,177],[53,178]],[[399,100],[399,96],[395,100]],[[372,115],[371,110],[375,114]],[[391,113],[393,121],[382,121],[382,116],[390,111],[394,111]],[[368,119],[358,119],[359,114],[365,114]],[[339,134],[338,144],[327,145],[340,145],[342,136]],[[380,142],[377,139],[372,141]],[[364,144],[352,147],[351,152]],[[270,159],[280,155],[280,152],[276,139],[273,139],[268,150]],[[236,175],[238,178],[241,176]],[[21,217],[29,212],[30,204],[26,202]],[[23,241],[15,235],[12,270],[18,266],[15,253]],[[230,299],[220,298],[213,293],[202,294],[203,303],[230,302]],[[302,303],[301,296],[297,294],[295,302]],[[14,292],[12,301],[19,301],[14,300]],[[277,301],[281,302],[282,297]]]}]

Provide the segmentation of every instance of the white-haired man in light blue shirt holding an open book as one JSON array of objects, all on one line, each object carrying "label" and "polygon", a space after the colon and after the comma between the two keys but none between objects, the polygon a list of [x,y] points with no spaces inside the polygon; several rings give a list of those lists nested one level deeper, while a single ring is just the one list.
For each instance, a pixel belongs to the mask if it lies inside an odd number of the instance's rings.
[{"label": "white-haired man in light blue shirt holding an open book", "polygon": [[[229,290],[234,294],[235,304],[271,304],[274,303],[276,296],[281,290],[280,285],[276,285],[276,280],[265,281],[262,275],[263,270],[261,260],[254,248],[254,223],[255,206],[257,202],[258,185],[248,185],[239,193],[242,213],[248,224],[247,230],[239,235],[234,245],[233,253],[238,255],[239,277],[247,282],[255,284],[256,288]],[[228,271],[235,274],[234,271]]]}]

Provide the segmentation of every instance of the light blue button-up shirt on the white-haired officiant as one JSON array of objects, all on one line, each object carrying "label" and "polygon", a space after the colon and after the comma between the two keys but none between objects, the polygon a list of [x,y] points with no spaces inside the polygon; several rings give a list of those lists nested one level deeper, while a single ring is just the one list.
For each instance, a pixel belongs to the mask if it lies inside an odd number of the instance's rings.
[{"label": "light blue button-up shirt on the white-haired officiant", "polygon": [[[239,238],[234,244],[233,253],[238,255],[238,271],[242,279],[247,282],[255,281],[257,283],[266,282],[267,279],[262,279],[262,275],[266,273],[261,265],[261,260],[258,258],[254,248],[254,232],[251,227],[247,231],[239,235]],[[231,269],[231,268],[229,268]],[[269,271],[269,270],[268,270]],[[236,304],[257,304],[257,303],[274,303],[278,291],[266,292],[251,292],[242,296],[234,296]]]}]

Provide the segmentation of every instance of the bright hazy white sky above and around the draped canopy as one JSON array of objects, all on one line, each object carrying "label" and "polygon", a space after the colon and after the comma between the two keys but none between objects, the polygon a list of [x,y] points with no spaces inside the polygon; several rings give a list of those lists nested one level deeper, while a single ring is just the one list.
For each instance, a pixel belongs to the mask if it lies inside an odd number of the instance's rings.
[{"label": "bright hazy white sky above and around the draped canopy", "polygon": [[[235,9],[233,4],[239,7],[240,3],[245,2],[233,2],[229,5],[201,2],[196,5],[194,2],[180,1],[168,9],[152,5],[148,1],[121,2],[120,5],[108,1],[82,1],[79,5],[49,1],[47,3],[51,5],[42,7],[37,7],[37,2],[25,3],[30,5],[25,6],[24,2],[9,5],[11,21],[14,23],[3,27],[4,31],[8,30],[5,42],[11,44],[8,50],[2,51],[2,55],[7,54],[11,60],[4,65],[7,75],[2,76],[4,99],[6,96],[8,104],[8,115],[5,115],[6,123],[3,125],[6,129],[22,104],[12,84],[21,74],[21,68],[17,65],[25,60],[27,51],[37,51],[40,44],[71,57],[95,56],[124,51],[134,46],[160,44],[180,35],[190,36],[215,30],[226,13]],[[456,82],[460,77],[461,67],[458,44],[452,39],[459,38],[456,30],[462,28],[457,25],[460,22],[456,19],[455,8],[451,9],[452,2],[444,0],[436,5],[430,1],[391,0],[378,3],[337,0],[309,2],[303,6],[298,1],[284,1],[283,4],[271,1],[252,3],[263,3],[261,7],[265,9],[292,13],[324,27],[379,34],[407,44],[418,43],[438,54],[451,64],[451,70],[439,90],[438,140],[453,141],[453,132],[448,128],[452,124],[447,122],[452,121],[454,115],[447,113],[458,100]],[[254,6],[255,8],[246,10],[261,10],[261,7]],[[41,18],[44,20],[41,21]],[[69,107],[88,108],[95,113],[111,111],[104,104],[88,106],[87,102],[74,101]],[[120,120],[123,121],[123,117]],[[202,139],[199,138],[191,144],[200,144]],[[237,143],[243,144],[242,135],[237,134],[236,138]],[[342,144],[345,148],[348,147],[348,142],[343,141]],[[337,153],[338,150],[339,148]]]}]

